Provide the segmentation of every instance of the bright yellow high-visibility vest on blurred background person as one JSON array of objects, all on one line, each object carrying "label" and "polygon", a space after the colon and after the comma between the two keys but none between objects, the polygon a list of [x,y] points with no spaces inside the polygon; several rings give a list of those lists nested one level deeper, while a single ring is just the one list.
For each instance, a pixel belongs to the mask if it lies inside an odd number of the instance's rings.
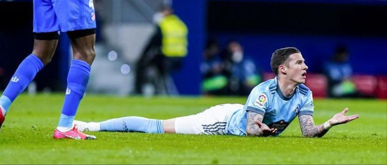
[{"label": "bright yellow high-visibility vest on blurred background person", "polygon": [[168,15],[159,23],[163,34],[161,52],[166,57],[185,57],[187,55],[188,29],[176,15]]}]

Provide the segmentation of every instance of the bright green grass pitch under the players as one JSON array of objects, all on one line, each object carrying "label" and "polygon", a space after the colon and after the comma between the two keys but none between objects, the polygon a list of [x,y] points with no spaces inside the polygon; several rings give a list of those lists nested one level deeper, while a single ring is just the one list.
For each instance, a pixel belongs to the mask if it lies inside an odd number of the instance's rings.
[{"label": "bright green grass pitch under the players", "polygon": [[[245,101],[87,95],[75,119],[168,119]],[[62,94],[19,96],[0,133],[0,164],[387,164],[386,100],[315,99],[316,124],[345,107],[360,114],[322,138],[302,138],[296,118],[279,137],[97,132],[89,141],[52,138],[62,102]]]}]

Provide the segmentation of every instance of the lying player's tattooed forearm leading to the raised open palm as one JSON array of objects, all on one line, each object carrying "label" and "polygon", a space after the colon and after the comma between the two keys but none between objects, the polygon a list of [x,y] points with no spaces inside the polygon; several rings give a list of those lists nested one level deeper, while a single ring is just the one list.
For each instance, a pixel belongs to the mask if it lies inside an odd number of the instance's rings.
[{"label": "lying player's tattooed forearm leading to the raised open palm", "polygon": [[322,137],[328,132],[324,125],[315,126],[313,118],[310,115],[299,116],[302,136],[304,137]]}]

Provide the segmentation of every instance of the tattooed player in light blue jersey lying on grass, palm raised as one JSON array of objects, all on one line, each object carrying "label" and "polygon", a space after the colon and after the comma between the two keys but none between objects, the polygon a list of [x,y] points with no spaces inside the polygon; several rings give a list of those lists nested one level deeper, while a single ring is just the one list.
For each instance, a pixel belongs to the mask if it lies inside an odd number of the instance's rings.
[{"label": "tattooed player in light blue jersey lying on grass, palm raised", "polygon": [[74,121],[80,131],[124,131],[206,135],[277,136],[298,116],[304,137],[321,137],[329,128],[359,118],[348,108],[322,125],[313,122],[312,92],[305,83],[308,66],[294,47],[276,50],[271,67],[277,75],[256,86],[246,104],[220,104],[205,111],[168,120],[129,116],[99,123]]}]

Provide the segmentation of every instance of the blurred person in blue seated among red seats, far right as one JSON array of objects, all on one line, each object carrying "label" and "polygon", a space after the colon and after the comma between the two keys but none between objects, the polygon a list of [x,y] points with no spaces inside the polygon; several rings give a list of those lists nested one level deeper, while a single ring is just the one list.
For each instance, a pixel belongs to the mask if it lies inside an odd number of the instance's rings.
[{"label": "blurred person in blue seated among red seats, far right", "polygon": [[351,97],[356,95],[354,83],[351,82],[352,67],[348,59],[346,46],[339,45],[336,47],[332,60],[325,64],[330,97]]}]

